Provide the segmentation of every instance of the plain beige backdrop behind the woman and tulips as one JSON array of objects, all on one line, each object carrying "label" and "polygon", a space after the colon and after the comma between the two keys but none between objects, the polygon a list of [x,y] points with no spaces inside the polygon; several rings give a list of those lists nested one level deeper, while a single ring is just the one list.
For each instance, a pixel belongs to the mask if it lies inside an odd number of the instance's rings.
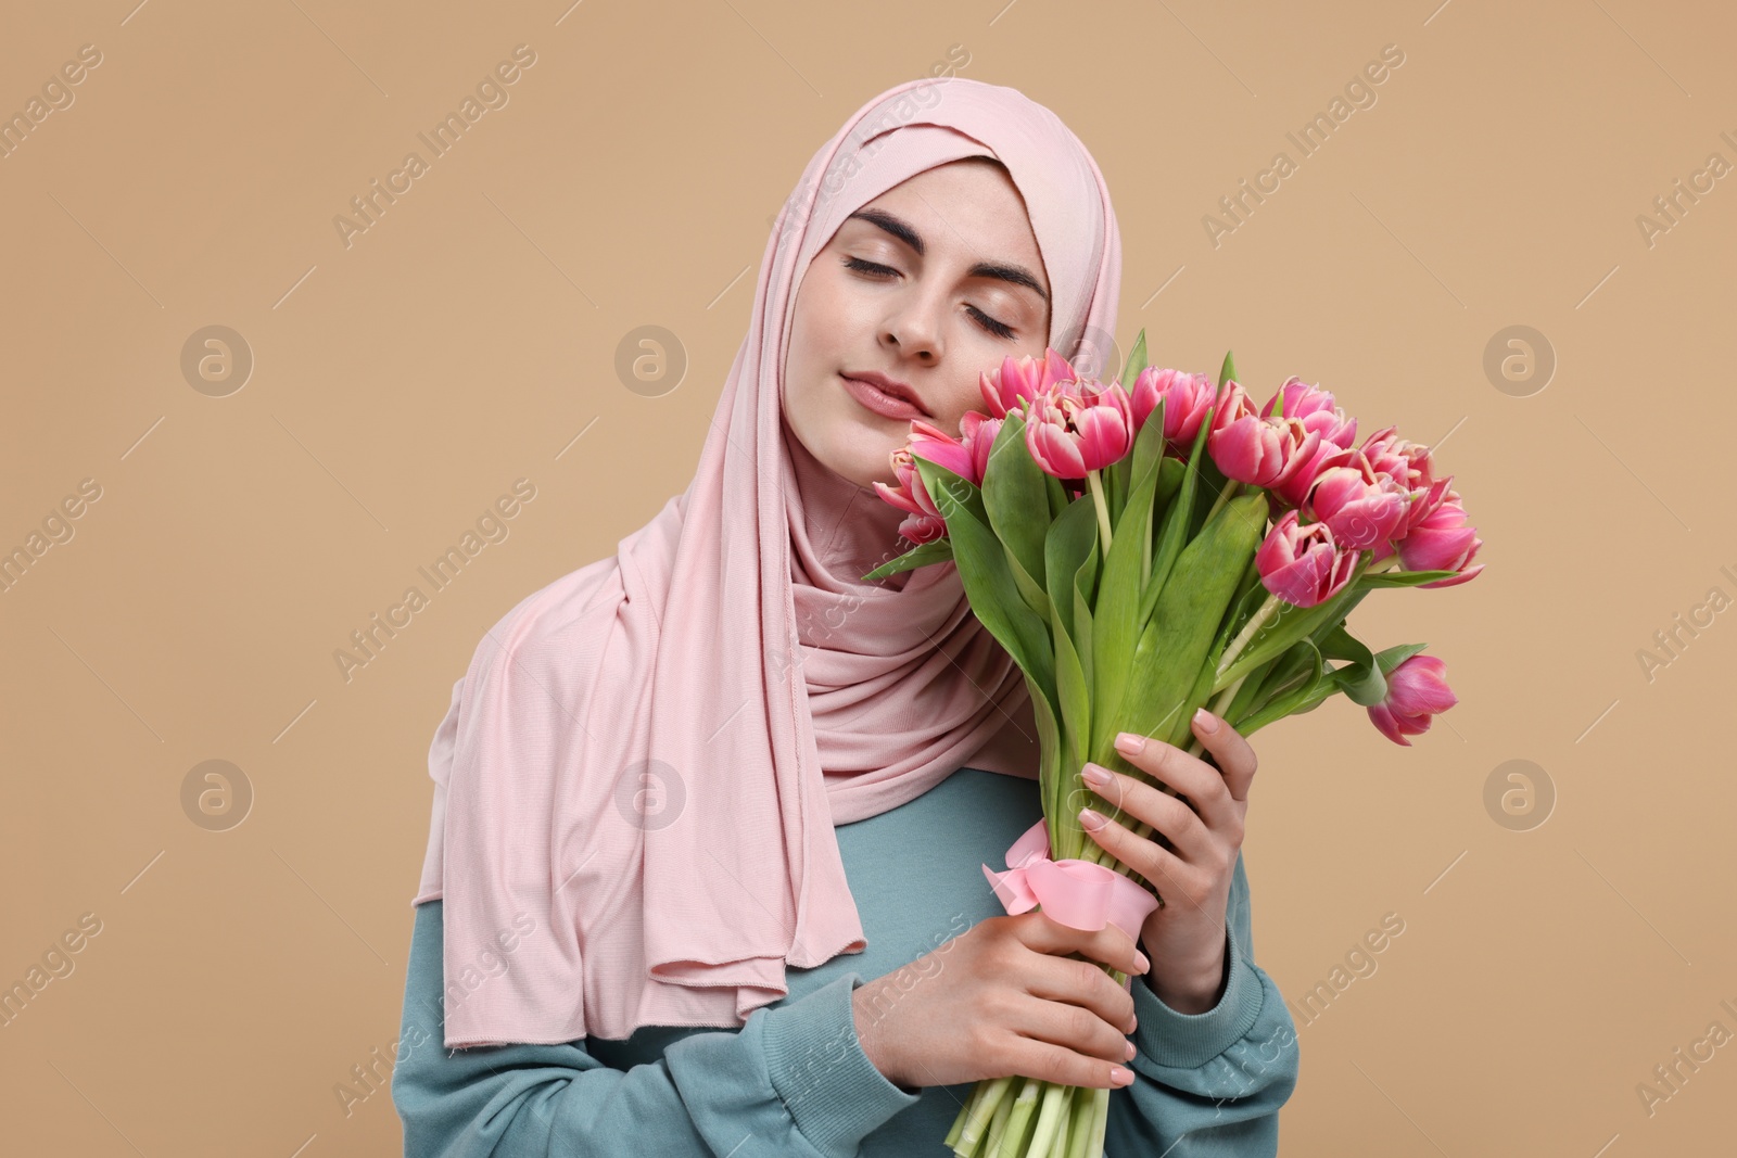
[{"label": "plain beige backdrop behind the woman and tulips", "polygon": [[[1473,583],[1355,618],[1447,661],[1463,701],[1428,736],[1336,700],[1258,738],[1256,957],[1294,1014],[1403,920],[1298,1014],[1284,1153],[1730,1149],[1737,1047],[1652,1113],[1636,1092],[1737,1031],[1737,613],[1638,660],[1737,595],[1737,177],[1636,224],[1737,163],[1725,5],[130,5],[0,36],[3,113],[101,52],[0,160],[0,549],[101,488],[0,594],[0,981],[101,922],[0,1030],[9,1149],[398,1153],[389,1092],[346,1116],[334,1085],[398,1035],[452,682],[686,484],[771,215],[862,102],[948,61],[1093,149],[1124,344],[1232,347],[1261,398],[1298,373],[1440,443],[1485,538]],[[514,45],[509,104],[346,247],[334,217]],[[1384,45],[1376,102],[1301,158],[1285,134]],[[1280,149],[1296,172],[1214,247],[1202,217]],[[224,398],[181,368],[210,325],[254,356]],[[615,372],[641,325],[690,363],[658,398]],[[1555,352],[1542,391],[1485,373],[1515,325]],[[346,682],[349,632],[521,477],[511,535]],[[1516,759],[1542,826],[1485,806]],[[189,819],[205,760],[252,786],[245,823]]]}]

